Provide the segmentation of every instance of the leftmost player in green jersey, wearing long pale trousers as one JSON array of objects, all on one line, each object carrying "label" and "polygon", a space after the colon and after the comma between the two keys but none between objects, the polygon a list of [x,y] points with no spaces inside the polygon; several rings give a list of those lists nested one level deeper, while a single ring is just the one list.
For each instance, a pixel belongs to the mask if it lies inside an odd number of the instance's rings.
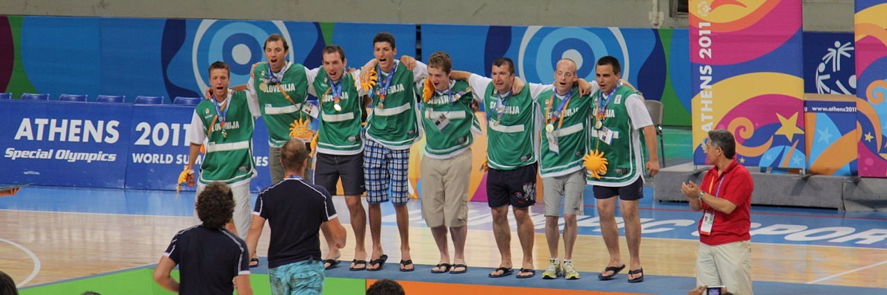
[{"label": "leftmost player in green jersey, wearing long pale trousers", "polygon": [[255,177],[253,162],[253,130],[255,105],[250,105],[246,91],[228,89],[231,71],[227,64],[216,61],[209,66],[207,96],[194,108],[188,142],[191,149],[188,157],[190,171],[188,186],[194,186],[193,167],[204,140],[206,155],[200,164],[200,181],[196,196],[209,182],[220,181],[231,187],[234,195],[234,223],[226,226],[241,238],[247,236],[252,221],[252,208],[249,206],[249,181]]}]

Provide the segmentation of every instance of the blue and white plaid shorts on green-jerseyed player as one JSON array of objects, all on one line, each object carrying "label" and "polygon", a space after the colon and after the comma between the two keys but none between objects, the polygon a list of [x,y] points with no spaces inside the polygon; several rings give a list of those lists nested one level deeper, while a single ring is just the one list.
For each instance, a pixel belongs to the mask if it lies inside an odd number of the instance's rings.
[{"label": "blue and white plaid shorts on green-jerseyed player", "polygon": [[410,200],[407,185],[410,168],[410,149],[391,150],[372,140],[364,147],[364,178],[366,182],[366,202],[404,205]]}]

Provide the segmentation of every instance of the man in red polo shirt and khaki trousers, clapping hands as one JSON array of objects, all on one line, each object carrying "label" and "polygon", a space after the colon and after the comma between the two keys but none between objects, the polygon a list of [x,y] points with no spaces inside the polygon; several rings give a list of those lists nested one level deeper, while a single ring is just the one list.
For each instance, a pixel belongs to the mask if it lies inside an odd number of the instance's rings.
[{"label": "man in red polo shirt and khaki trousers, clapping hands", "polygon": [[703,211],[696,285],[724,285],[734,294],[752,294],[749,209],[754,182],[749,170],[734,159],[736,142],[730,131],[709,131],[703,149],[714,167],[700,185],[681,183],[690,208]]}]

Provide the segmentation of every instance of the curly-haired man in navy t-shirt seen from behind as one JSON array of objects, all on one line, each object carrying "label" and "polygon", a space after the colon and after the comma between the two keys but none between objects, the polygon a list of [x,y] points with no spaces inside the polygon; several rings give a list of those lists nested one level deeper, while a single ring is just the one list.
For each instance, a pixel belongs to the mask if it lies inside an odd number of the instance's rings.
[{"label": "curly-haired man in navy t-shirt seen from behind", "polygon": [[[224,224],[232,220],[234,196],[224,182],[211,182],[197,197],[203,224],[182,229],[154,268],[154,281],[179,294],[252,294],[247,244]],[[169,273],[178,265],[181,283]],[[233,280],[233,283],[232,283]]]}]

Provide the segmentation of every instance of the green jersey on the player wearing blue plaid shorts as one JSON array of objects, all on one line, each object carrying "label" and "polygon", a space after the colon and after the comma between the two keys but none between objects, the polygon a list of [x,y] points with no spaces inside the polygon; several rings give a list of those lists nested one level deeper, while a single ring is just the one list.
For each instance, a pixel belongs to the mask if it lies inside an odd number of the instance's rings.
[{"label": "green jersey on the player wearing blue plaid shorts", "polygon": [[[380,70],[373,86],[371,113],[366,118],[366,138],[392,150],[409,149],[419,139],[418,112],[412,70],[396,63],[394,76],[387,89],[381,89],[388,78]],[[382,90],[382,91],[380,91]],[[384,99],[381,94],[386,92]]]}]

